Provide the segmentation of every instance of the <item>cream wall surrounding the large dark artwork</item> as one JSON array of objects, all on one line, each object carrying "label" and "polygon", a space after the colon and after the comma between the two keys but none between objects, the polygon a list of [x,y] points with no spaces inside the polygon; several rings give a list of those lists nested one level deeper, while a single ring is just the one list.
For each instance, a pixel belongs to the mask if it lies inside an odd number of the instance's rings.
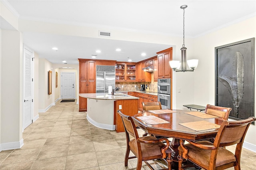
[{"label": "cream wall surrounding the large dark artwork", "polygon": [[[255,37],[256,17],[253,17],[195,39],[194,51],[199,64],[194,74],[194,104],[215,104],[215,47]],[[256,126],[251,125],[246,134],[245,144],[252,144],[251,149],[254,148],[254,151],[255,134]]]}]

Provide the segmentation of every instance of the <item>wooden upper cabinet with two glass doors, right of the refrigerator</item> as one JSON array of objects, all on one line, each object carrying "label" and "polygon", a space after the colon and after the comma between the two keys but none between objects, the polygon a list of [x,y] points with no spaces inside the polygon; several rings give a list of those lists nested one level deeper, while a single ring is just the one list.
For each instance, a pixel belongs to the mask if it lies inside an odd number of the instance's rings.
[{"label": "wooden upper cabinet with two glass doors, right of the refrigerator", "polygon": [[116,63],[116,81],[136,81],[136,64]]}]

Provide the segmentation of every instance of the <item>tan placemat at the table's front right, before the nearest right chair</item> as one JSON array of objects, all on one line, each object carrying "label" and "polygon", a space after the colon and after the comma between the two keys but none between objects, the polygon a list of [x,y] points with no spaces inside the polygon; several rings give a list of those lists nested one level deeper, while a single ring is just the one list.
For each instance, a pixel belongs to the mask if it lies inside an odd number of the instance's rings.
[{"label": "tan placemat at the table's front right, before the nearest right chair", "polygon": [[195,131],[220,128],[220,125],[217,125],[215,123],[210,123],[210,122],[207,122],[207,121],[179,123],[179,125],[182,125],[184,127],[190,128],[190,129],[195,130]]}]

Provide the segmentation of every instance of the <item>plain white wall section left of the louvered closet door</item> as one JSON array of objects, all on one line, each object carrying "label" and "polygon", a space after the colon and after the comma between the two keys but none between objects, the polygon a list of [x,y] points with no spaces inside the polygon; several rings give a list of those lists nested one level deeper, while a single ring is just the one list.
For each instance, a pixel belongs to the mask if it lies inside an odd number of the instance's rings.
[{"label": "plain white wall section left of the louvered closet door", "polygon": [[23,46],[21,42],[20,32],[2,30],[1,144],[3,149],[3,145],[10,143],[19,146],[22,140]]}]

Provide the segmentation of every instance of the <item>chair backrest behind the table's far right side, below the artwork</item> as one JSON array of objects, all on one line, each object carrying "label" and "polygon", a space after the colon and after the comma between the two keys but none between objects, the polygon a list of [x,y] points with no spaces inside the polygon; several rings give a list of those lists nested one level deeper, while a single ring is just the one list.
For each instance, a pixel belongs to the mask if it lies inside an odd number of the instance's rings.
[{"label": "chair backrest behind the table's far right side, below the artwork", "polygon": [[206,105],[204,113],[218,117],[224,117],[226,120],[228,120],[228,116],[231,110],[232,109],[230,107],[220,107],[208,104]]}]

